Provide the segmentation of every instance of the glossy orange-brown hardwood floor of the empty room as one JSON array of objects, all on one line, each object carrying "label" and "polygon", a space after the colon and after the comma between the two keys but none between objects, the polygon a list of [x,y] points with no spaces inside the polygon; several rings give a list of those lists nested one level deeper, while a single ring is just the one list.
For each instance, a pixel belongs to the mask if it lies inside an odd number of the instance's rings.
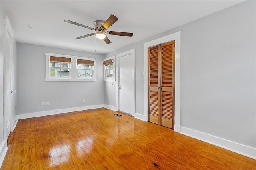
[{"label": "glossy orange-brown hardwood floor of the empty room", "polygon": [[1,170],[256,169],[256,160],[108,109],[22,119]]}]

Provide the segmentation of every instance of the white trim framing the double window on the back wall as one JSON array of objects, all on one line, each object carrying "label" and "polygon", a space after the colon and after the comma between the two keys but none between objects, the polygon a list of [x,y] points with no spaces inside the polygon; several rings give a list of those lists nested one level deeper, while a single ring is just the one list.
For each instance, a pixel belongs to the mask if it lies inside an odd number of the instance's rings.
[{"label": "white trim framing the double window on the back wall", "polygon": [[[64,58],[71,58],[71,68],[70,68],[70,77],[67,78],[50,78],[49,76],[49,56],[56,56],[56,57],[64,57]],[[76,59],[85,59],[85,60],[93,60],[94,61],[94,71],[93,71],[93,79],[82,79],[77,78],[76,73]],[[63,54],[55,54],[55,53],[45,53],[45,79],[44,81],[88,81],[88,82],[95,82],[96,81],[96,58],[88,58],[88,57],[78,57],[72,55],[63,55]]]}]

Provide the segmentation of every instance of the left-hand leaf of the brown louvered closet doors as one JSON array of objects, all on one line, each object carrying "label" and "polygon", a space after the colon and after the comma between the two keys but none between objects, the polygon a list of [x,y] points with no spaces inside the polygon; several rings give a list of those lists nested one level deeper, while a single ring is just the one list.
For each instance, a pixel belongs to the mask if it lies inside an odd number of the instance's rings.
[{"label": "left-hand leaf of the brown louvered closet doors", "polygon": [[149,121],[152,123],[156,123],[160,125],[160,117],[159,117],[159,103],[160,93],[158,91],[158,87],[160,85],[160,72],[158,68],[160,67],[159,55],[160,55],[160,47],[155,46],[148,48],[148,113],[149,113]]}]

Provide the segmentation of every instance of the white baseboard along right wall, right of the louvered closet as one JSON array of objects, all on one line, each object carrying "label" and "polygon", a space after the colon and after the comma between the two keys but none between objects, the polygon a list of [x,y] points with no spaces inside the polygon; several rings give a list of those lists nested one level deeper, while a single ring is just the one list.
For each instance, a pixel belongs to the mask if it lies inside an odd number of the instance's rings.
[{"label": "white baseboard along right wall, right of the louvered closet", "polygon": [[215,146],[219,146],[221,148],[230,150],[232,152],[236,152],[238,154],[256,159],[256,148],[252,148],[250,146],[232,142],[232,141],[226,140],[224,138],[220,138],[217,136],[213,136],[210,134],[192,130],[190,128],[179,127],[179,129],[180,129],[180,133],[184,134],[186,136],[190,136],[192,138],[202,140],[204,142],[213,144]]}]

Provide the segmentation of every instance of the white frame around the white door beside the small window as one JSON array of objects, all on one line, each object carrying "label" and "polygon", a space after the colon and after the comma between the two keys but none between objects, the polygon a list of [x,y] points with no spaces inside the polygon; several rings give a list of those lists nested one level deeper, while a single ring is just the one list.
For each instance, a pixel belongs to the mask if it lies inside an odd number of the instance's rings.
[{"label": "white frame around the white door beside the small window", "polygon": [[135,113],[135,49],[131,49],[129,51],[125,51],[123,53],[119,53],[116,55],[116,66],[118,69],[116,69],[116,107],[117,110],[119,111],[119,58],[124,57],[126,55],[132,55],[132,116],[134,116]]}]

